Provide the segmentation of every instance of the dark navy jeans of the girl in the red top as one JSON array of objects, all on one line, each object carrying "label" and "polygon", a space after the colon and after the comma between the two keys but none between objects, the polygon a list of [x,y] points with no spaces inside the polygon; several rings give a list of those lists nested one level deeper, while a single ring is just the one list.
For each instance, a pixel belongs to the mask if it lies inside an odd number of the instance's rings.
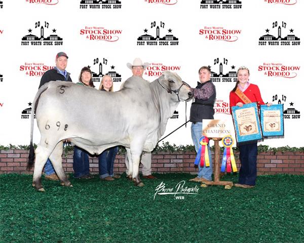
[{"label": "dark navy jeans of the girl in the red top", "polygon": [[254,186],[256,180],[257,142],[240,145],[239,149],[241,160],[239,183]]}]

